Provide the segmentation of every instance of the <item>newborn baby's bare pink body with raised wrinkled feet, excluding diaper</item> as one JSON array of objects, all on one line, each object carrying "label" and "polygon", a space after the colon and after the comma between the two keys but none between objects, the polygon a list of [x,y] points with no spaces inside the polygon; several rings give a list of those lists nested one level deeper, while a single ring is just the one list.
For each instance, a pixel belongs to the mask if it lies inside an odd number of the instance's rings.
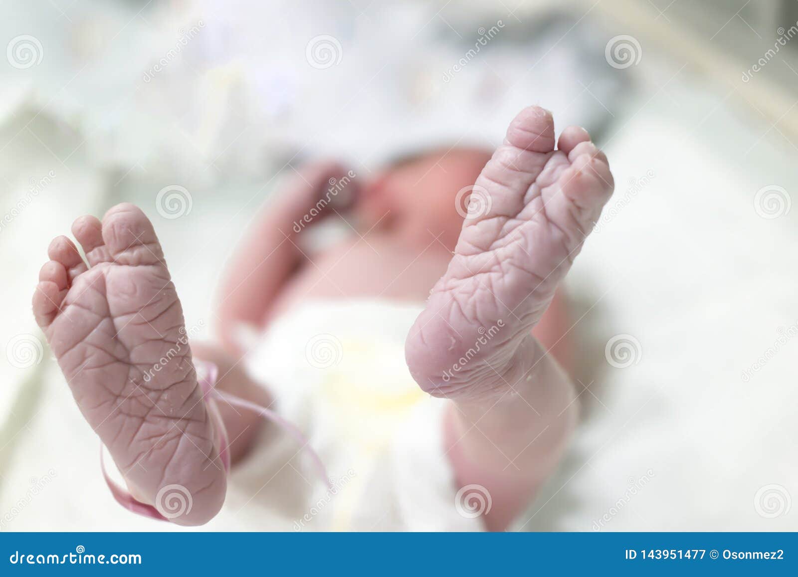
[{"label": "newborn baby's bare pink body with raised wrinkled feet, excluding diaper", "polygon": [[[404,333],[405,362],[429,395],[414,393],[440,407],[440,419],[427,425],[430,443],[440,435],[441,451],[429,471],[412,472],[417,484],[432,487],[427,476],[440,467],[452,499],[458,488],[483,489],[483,527],[500,531],[558,464],[577,402],[555,361],[565,357],[570,330],[555,291],[612,193],[606,156],[583,128],[566,128],[555,141],[551,114],[532,106],[492,156],[452,148],[393,164],[373,180],[351,176],[337,164],[306,168],[255,219],[223,276],[215,346],[176,346],[186,334],[180,299],[139,208],[119,204],[102,221],[77,219],[72,231],[85,259],[65,236],[50,244],[33,300],[38,325],[132,496],[156,505],[174,485],[191,496],[192,506],[172,522],[211,520],[228,491],[227,458],[235,465],[271,441],[259,431],[258,413],[223,401],[213,406],[194,360],[219,368],[215,389],[260,405],[276,401],[282,413],[281,395],[239,363],[255,352],[243,350],[237,334],[242,325],[268,332],[277,322],[301,330],[290,314],[311,300],[393,302],[402,311],[421,303]],[[332,182],[346,184],[340,196],[330,194]],[[313,254],[306,241],[330,215],[357,228],[346,242]],[[397,381],[401,371],[389,364],[369,372],[377,391]],[[299,381],[286,392],[306,386]],[[346,378],[338,386],[346,389]],[[300,405],[318,405],[319,390]],[[334,413],[323,404],[318,411]],[[377,427],[370,430],[361,437],[381,438]],[[350,442],[334,437],[311,437],[311,445],[330,453]],[[372,453],[358,453],[361,468]]]}]

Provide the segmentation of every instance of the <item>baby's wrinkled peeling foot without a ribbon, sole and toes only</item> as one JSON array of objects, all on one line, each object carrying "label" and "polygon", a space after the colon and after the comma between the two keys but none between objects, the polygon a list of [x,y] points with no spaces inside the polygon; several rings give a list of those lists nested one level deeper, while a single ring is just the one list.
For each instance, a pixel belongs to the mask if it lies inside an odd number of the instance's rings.
[{"label": "baby's wrinkled peeling foot without a ribbon, sole and toes only", "polygon": [[405,356],[439,397],[504,393],[544,354],[530,331],[613,190],[606,156],[551,113],[524,109],[471,193],[455,255],[410,330]]}]

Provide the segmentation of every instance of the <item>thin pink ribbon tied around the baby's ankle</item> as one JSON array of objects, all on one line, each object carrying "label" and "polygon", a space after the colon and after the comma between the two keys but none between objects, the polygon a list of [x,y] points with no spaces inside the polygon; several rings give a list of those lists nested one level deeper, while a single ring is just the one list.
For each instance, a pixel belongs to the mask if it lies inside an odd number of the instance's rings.
[{"label": "thin pink ribbon tied around the baby's ankle", "polygon": [[[258,405],[257,403],[246,401],[245,399],[236,397],[230,393],[220,393],[214,388],[216,381],[219,378],[219,367],[212,362],[205,361],[195,361],[194,364],[196,368],[199,369],[198,373],[201,373],[198,381],[203,390],[203,398],[207,401],[207,408],[211,413],[211,417],[215,420],[215,429],[219,435],[219,458],[222,460],[222,463],[224,464],[224,470],[226,472],[230,472],[230,452],[228,450],[229,441],[227,439],[227,430],[224,428],[224,423],[222,421],[221,415],[219,414],[219,409],[216,406],[215,401],[224,401],[231,406],[239,407],[239,409],[247,409],[253,411],[254,413],[258,413],[260,417],[267,419],[267,421],[274,422],[280,428],[285,430],[286,433],[289,433],[291,437],[294,437],[294,439],[296,439],[296,441],[299,443],[299,450],[306,450],[306,453],[310,456],[310,460],[313,463],[314,469],[318,473],[318,476],[324,481],[326,487],[330,488],[330,479],[327,476],[324,463],[322,462],[321,458],[319,458],[318,453],[316,453],[313,448],[310,447],[310,441],[308,441],[307,437],[302,434],[302,431],[300,431],[296,425],[290,421],[287,421],[283,417],[280,417],[279,414],[275,413],[271,409],[267,409],[266,407]],[[101,446],[100,467],[102,469],[103,477],[105,478],[105,483],[108,484],[111,495],[115,500],[117,500],[117,503],[128,509],[128,511],[136,513],[136,515],[161,521],[168,521],[166,517],[160,514],[158,509],[152,505],[148,505],[136,500],[126,488],[123,488],[111,478],[108,469],[105,468],[105,459],[103,457],[102,449],[103,448]]]}]

